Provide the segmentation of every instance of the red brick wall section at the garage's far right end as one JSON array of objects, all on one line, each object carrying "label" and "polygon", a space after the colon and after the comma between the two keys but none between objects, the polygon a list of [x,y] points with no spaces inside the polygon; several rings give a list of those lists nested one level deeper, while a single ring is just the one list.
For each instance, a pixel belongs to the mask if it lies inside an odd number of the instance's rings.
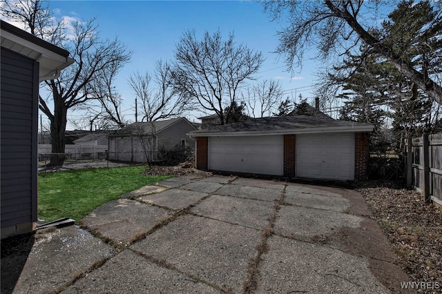
[{"label": "red brick wall section at the garage's far right end", "polygon": [[367,179],[368,173],[368,133],[354,134],[354,179]]}]

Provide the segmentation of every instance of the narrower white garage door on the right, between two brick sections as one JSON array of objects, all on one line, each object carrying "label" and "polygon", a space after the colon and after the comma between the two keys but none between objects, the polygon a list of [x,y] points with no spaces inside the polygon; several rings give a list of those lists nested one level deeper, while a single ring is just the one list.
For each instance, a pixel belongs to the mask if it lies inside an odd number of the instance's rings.
[{"label": "narrower white garage door on the right, between two brick sections", "polygon": [[354,133],[296,135],[296,176],[354,179]]}]

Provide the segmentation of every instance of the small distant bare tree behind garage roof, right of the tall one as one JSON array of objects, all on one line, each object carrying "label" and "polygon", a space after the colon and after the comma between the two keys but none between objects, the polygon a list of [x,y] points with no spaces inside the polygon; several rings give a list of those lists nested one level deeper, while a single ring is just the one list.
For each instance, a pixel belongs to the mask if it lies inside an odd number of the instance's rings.
[{"label": "small distant bare tree behind garage roof, right of the tall one", "polygon": [[263,79],[247,89],[247,106],[253,117],[270,116],[276,111],[282,99],[282,86],[279,81]]}]

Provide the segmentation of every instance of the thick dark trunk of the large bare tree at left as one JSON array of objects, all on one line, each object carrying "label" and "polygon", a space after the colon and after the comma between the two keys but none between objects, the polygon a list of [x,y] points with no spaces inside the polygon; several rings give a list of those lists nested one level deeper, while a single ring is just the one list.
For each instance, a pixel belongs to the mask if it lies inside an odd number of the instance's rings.
[{"label": "thick dark trunk of the large bare tree at left", "polygon": [[[54,97],[55,98],[55,97]],[[52,143],[50,163],[51,166],[61,166],[66,156],[64,154],[66,145],[66,124],[68,121],[68,108],[61,97],[54,99],[54,117],[50,121],[50,139]]]}]

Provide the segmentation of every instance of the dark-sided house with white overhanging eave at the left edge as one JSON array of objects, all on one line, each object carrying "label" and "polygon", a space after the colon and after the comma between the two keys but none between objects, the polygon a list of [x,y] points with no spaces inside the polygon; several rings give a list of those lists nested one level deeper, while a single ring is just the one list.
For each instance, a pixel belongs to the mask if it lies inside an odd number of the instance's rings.
[{"label": "dark-sided house with white overhanging eave at the left edge", "polygon": [[69,52],[1,21],[1,239],[37,221],[39,82],[74,62]]}]

